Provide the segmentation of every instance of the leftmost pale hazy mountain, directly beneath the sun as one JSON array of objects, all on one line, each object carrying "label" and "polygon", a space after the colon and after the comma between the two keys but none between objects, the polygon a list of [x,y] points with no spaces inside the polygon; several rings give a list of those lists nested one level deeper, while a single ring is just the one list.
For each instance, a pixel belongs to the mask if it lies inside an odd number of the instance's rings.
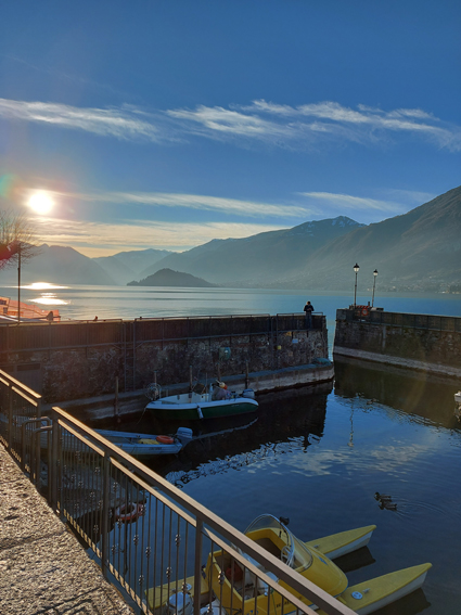
[{"label": "leftmost pale hazy mountain, directly beneath the sun", "polygon": [[[50,282],[53,284],[114,285],[115,281],[94,259],[72,247],[43,244],[37,254],[21,267],[21,281],[25,284]],[[0,271],[0,285],[17,283],[17,266]]]}]

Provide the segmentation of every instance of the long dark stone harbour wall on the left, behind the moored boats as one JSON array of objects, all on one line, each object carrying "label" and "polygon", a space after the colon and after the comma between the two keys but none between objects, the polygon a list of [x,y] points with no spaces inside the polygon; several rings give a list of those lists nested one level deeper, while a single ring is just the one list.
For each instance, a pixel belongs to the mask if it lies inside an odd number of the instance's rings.
[{"label": "long dark stone harbour wall on the left, behind the moored boats", "polygon": [[[191,370],[193,379],[209,382],[218,376],[226,379],[246,371],[280,370],[326,359],[325,318],[318,316],[313,329],[306,331],[304,315],[290,316],[254,317],[238,324],[231,318],[219,319],[218,325],[216,320],[207,319],[202,323],[195,319],[192,324],[187,319],[175,319],[164,326],[159,325],[162,319],[124,321],[107,323],[105,330],[104,322],[90,323],[87,330],[85,323],[68,330],[66,323],[61,330],[60,323],[22,324],[21,335],[10,331],[9,337],[0,328],[0,343],[2,335],[8,343],[0,350],[0,369],[29,384],[30,368],[35,390],[41,393],[43,402],[54,403],[113,393],[116,379],[123,393],[145,388],[154,380],[163,387],[189,382]],[[192,326],[194,332],[200,329],[202,335],[172,338],[172,328],[183,333]],[[246,334],[230,333],[245,329]],[[48,347],[43,347],[46,344]]]}]

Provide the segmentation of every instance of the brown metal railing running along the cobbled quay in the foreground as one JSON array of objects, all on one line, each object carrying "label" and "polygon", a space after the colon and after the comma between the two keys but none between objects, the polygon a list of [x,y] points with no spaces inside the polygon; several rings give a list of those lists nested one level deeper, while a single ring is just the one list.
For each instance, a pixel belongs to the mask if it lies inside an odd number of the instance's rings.
[{"label": "brown metal railing running along the cobbled quay in the foreground", "polygon": [[40,412],[33,393],[0,371],[0,441],[140,612],[311,615],[313,603],[330,615],[353,615],[60,408],[50,437],[49,421],[31,420]]}]

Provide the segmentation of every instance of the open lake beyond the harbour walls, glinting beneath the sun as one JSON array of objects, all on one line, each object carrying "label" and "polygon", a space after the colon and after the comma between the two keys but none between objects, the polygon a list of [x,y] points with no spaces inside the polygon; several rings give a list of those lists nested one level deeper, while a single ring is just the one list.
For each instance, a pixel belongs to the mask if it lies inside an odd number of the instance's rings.
[{"label": "open lake beyond the harbour walls, glinting beneath the sun", "polygon": [[[0,287],[0,295],[16,299],[17,287]],[[307,299],[312,303],[317,312],[326,316],[331,351],[336,309],[354,303],[354,295],[252,289],[67,286],[46,282],[21,289],[22,302],[36,304],[42,309],[59,309],[62,320],[93,320],[95,316],[103,320],[293,313],[302,312]],[[357,304],[367,304],[370,300],[371,292],[367,295],[358,293]],[[387,311],[461,316],[461,295],[376,294],[374,305]]]}]

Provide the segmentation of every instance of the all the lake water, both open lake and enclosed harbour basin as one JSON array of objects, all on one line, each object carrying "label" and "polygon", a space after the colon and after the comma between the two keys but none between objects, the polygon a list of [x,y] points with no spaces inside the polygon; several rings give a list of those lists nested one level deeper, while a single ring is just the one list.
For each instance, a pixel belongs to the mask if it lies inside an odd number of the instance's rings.
[{"label": "all the lake water, both open lake and enclosed harbour basin", "polygon": [[[0,294],[14,298],[12,289]],[[309,298],[326,315],[330,342],[335,310],[353,302],[297,291],[22,290],[25,302],[51,295],[56,304],[47,305],[59,307],[64,319],[290,313],[302,311]],[[359,296],[357,303],[370,298]],[[375,305],[461,316],[460,296],[389,294],[377,296]],[[242,530],[261,513],[290,517],[291,529],[304,540],[376,524],[369,549],[347,573],[349,582],[432,562],[424,590],[382,615],[458,615],[461,426],[453,394],[460,387],[396,368],[335,361],[334,384],[262,395],[255,415],[194,424],[203,437],[152,467]],[[177,426],[155,424],[144,413],[123,428],[170,433]],[[210,431],[226,433],[207,436]],[[392,495],[397,510],[382,510],[375,491]]]}]

